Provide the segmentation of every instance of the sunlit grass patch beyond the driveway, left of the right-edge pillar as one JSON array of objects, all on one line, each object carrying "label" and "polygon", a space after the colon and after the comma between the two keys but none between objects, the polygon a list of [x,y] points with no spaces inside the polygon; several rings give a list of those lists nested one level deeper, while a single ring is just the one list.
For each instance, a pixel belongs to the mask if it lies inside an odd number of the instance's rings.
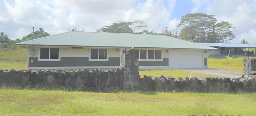
[{"label": "sunlit grass patch beyond the driveway, left of the right-edge pillar", "polygon": [[244,72],[244,58],[234,59],[208,59],[208,68],[215,68],[220,70],[228,70],[231,72]]}]

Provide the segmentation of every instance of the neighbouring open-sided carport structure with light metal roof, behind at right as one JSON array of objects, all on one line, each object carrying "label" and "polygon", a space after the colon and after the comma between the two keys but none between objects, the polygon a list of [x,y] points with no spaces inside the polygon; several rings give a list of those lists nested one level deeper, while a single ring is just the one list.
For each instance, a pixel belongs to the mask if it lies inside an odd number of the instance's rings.
[{"label": "neighbouring open-sided carport structure with light metal roof, behind at right", "polygon": [[[223,54],[225,56],[232,57],[240,57],[240,56],[254,56],[254,51],[256,46],[251,46],[248,44],[227,44],[227,43],[197,43],[205,46],[211,46],[214,48],[218,48],[217,51],[209,51],[209,55],[220,55]],[[254,51],[244,50],[246,48],[254,48]]]}]

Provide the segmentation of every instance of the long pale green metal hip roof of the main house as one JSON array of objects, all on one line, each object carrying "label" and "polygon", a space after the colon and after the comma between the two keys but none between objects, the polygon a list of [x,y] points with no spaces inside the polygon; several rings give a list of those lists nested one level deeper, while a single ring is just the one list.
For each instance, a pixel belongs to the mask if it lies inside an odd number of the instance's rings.
[{"label": "long pale green metal hip roof of the main house", "polygon": [[22,43],[18,46],[81,46],[118,48],[166,48],[216,50],[210,46],[166,35],[68,31]]}]

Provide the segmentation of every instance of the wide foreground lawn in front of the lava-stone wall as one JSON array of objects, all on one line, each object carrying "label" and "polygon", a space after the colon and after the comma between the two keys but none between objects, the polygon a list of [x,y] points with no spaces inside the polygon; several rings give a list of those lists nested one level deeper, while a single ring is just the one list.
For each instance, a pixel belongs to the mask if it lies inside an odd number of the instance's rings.
[{"label": "wide foreground lawn in front of the lava-stone wall", "polygon": [[0,89],[0,115],[256,115],[256,93],[90,93]]}]

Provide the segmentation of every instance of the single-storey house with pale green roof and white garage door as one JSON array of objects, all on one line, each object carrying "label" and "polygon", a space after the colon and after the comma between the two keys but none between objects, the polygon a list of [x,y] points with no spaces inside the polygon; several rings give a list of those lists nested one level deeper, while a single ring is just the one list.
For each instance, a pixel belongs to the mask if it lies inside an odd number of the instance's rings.
[{"label": "single-storey house with pale green roof and white garage door", "polygon": [[68,31],[22,43],[28,69],[120,68],[120,49],[138,51],[140,69],[208,68],[210,46],[166,35]]}]

